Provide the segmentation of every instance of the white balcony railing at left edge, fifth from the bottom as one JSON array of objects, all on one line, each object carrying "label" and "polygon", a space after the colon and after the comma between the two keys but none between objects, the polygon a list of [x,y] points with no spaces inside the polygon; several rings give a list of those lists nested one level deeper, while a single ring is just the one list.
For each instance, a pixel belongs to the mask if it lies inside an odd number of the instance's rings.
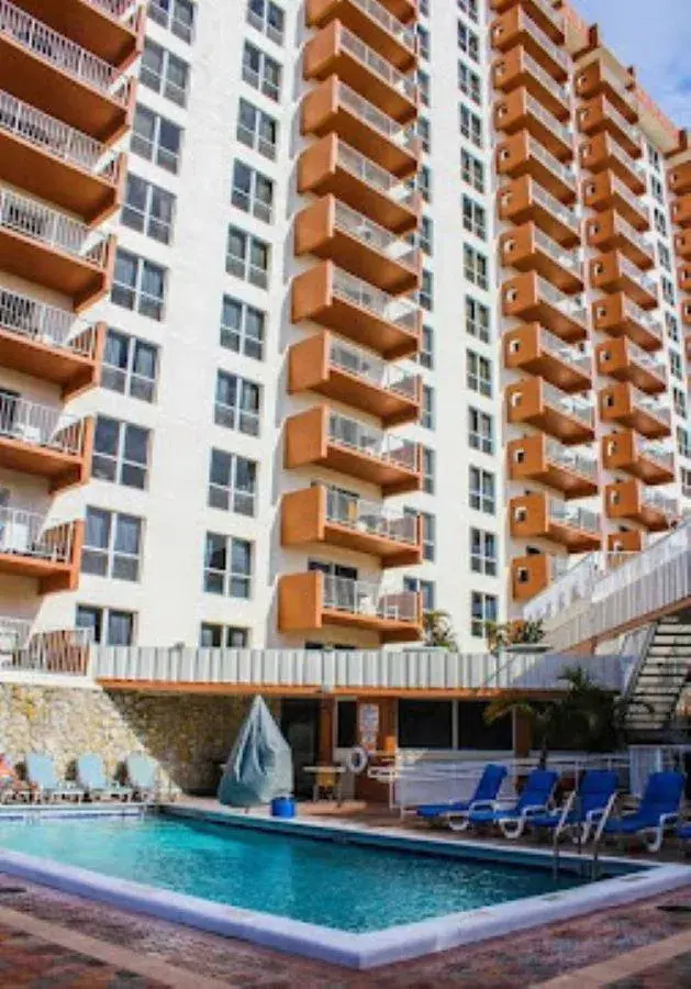
[{"label": "white balcony railing at left edge, fifth from the bottom", "polygon": [[91,265],[105,264],[108,236],[35,199],[0,188],[0,226]]}]

